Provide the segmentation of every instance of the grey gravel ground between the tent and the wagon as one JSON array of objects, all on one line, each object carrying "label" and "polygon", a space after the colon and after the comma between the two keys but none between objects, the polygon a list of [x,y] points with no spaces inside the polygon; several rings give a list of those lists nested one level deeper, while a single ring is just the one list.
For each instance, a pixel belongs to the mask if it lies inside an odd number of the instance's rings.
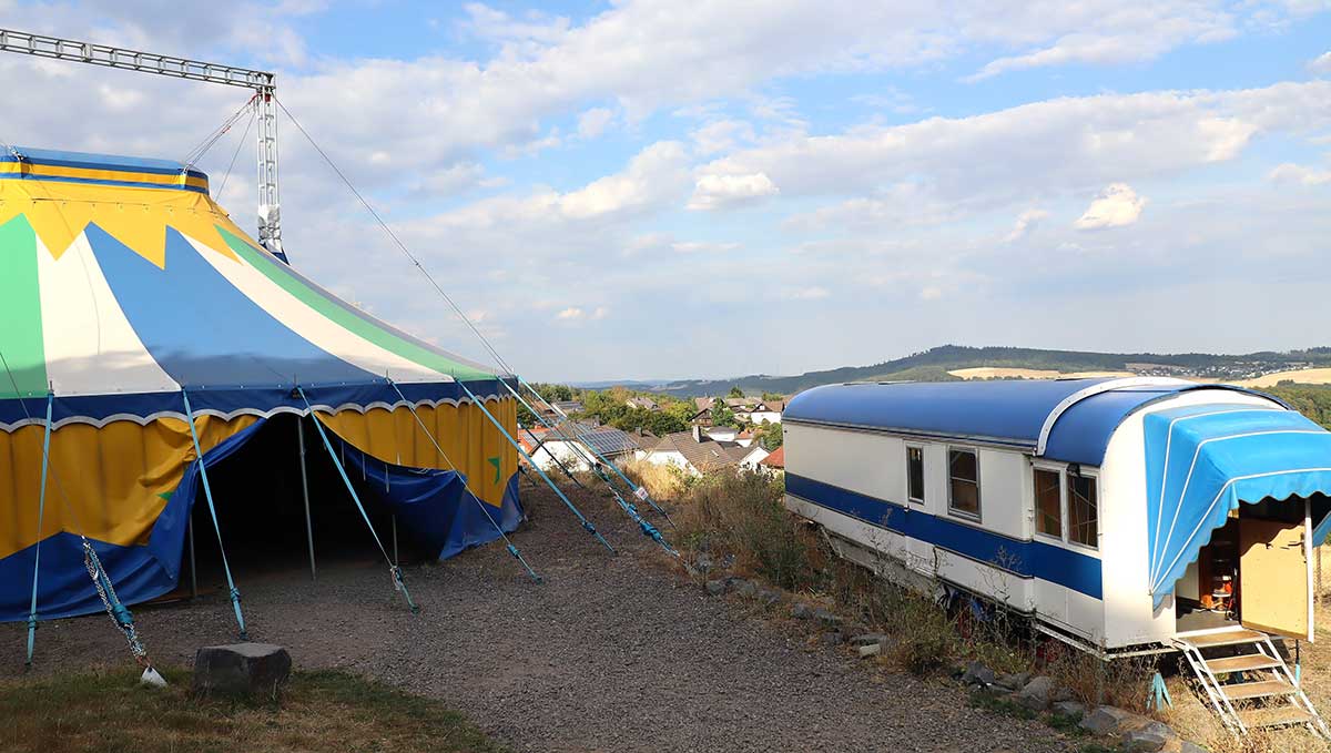
[{"label": "grey gravel ground between the tent and the wagon", "polygon": [[[407,568],[423,608],[413,617],[367,555],[321,561],[313,584],[291,560],[237,573],[252,639],[287,647],[299,667],[350,668],[441,698],[516,750],[1071,746],[1042,722],[968,708],[957,688],[868,669],[780,620],[705,596],[607,500],[580,506],[618,557],[558,502],[526,484],[523,494],[532,520],[514,540],[543,585],[490,545]],[[234,640],[220,591],[136,615],[160,663],[189,664],[197,647]],[[21,672],[21,635],[0,627],[12,647],[0,675]],[[39,672],[128,660],[104,616],[37,632]]]}]

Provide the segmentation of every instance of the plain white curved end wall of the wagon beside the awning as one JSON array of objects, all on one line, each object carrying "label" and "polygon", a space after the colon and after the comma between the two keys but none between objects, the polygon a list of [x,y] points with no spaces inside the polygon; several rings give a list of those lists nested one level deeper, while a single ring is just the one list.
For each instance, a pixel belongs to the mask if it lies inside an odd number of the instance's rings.
[{"label": "plain white curved end wall of the wagon beside the awning", "polygon": [[1130,414],[1109,442],[1101,467],[1101,536],[1105,541],[1105,641],[1107,648],[1166,641],[1175,632],[1174,597],[1155,609],[1149,589],[1145,416],[1207,403],[1282,407],[1250,392],[1195,390]]}]

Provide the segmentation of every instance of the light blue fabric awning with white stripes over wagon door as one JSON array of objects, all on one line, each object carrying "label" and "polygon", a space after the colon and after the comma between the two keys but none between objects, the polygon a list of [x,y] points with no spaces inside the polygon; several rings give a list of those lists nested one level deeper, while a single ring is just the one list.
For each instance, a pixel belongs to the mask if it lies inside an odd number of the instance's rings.
[{"label": "light blue fabric awning with white stripes over wagon door", "polygon": [[[1296,411],[1213,403],[1147,414],[1143,423],[1157,608],[1239,503],[1331,494],[1331,432]],[[1318,522],[1316,545],[1328,522]]]}]

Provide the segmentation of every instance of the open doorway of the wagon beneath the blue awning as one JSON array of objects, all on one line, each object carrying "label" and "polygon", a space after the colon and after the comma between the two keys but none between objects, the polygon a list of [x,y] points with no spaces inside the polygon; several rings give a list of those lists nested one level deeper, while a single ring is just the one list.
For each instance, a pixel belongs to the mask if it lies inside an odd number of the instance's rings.
[{"label": "open doorway of the wagon beneath the blue awning", "polygon": [[1179,581],[1178,632],[1242,625],[1311,640],[1312,524],[1328,508],[1314,495],[1231,511]]}]

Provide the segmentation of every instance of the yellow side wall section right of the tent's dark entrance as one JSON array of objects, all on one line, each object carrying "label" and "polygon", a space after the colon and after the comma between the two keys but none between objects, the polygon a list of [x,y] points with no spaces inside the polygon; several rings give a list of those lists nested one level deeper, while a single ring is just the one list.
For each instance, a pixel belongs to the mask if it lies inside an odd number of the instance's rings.
[{"label": "yellow side wall section right of the tent's dark entrance", "polygon": [[[486,403],[510,436],[518,432],[518,402],[512,398]],[[439,442],[450,464],[435,450],[430,436],[411,416],[411,410],[398,407],[370,408],[366,412],[345,410],[337,415],[317,414],[325,426],[357,450],[395,466],[413,468],[458,470],[467,476],[473,494],[487,504],[503,504],[508,479],[518,472],[518,452],[490,423],[480,408],[471,403],[415,408],[421,422]]]}]

